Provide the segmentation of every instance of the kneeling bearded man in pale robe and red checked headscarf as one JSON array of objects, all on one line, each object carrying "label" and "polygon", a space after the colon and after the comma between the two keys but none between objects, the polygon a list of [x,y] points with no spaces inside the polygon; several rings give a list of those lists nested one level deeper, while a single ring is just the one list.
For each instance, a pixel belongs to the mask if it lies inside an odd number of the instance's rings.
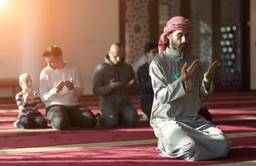
[{"label": "kneeling bearded man in pale robe and red checked headscarf", "polygon": [[191,22],[185,17],[167,21],[160,37],[159,51],[149,67],[154,100],[151,126],[158,138],[161,156],[182,160],[225,158],[230,139],[198,114],[201,98],[210,98],[212,77],[219,62],[203,73],[200,60],[184,53]]}]

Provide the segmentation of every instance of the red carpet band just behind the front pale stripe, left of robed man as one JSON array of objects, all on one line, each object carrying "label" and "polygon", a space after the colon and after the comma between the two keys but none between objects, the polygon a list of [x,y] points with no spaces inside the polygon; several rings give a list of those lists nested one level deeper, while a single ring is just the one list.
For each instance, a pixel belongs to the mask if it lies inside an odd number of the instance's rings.
[{"label": "red carpet band just behind the front pale stripe, left of robed man", "polygon": [[0,149],[145,139],[155,139],[151,127],[1,133]]}]

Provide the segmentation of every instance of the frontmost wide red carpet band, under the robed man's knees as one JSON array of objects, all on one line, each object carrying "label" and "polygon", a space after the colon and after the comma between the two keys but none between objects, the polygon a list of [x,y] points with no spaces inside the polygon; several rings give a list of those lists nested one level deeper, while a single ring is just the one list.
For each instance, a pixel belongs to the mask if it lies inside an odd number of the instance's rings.
[{"label": "frontmost wide red carpet band, under the robed man's knees", "polygon": [[119,147],[43,151],[30,154],[0,155],[2,165],[213,165],[255,160],[256,137],[232,138],[228,158],[210,161],[185,161],[158,156],[155,144]]}]

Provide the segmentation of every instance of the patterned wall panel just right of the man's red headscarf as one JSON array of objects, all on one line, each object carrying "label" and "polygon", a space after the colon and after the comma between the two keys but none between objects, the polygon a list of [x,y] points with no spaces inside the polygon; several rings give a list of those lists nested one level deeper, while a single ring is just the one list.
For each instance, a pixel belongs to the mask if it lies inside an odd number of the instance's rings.
[{"label": "patterned wall panel just right of the man's red headscarf", "polygon": [[212,1],[191,1],[189,51],[200,58],[203,70],[212,64]]}]

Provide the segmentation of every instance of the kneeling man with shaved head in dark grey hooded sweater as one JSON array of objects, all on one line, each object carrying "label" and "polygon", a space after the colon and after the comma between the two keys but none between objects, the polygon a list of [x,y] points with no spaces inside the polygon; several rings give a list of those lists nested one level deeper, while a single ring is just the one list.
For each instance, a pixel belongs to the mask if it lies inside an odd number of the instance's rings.
[{"label": "kneeling man with shaved head in dark grey hooded sweater", "polygon": [[92,91],[100,96],[102,116],[96,115],[99,124],[105,127],[137,124],[139,116],[129,95],[139,94],[139,88],[132,66],[123,61],[121,44],[112,44],[104,62],[96,66]]}]

